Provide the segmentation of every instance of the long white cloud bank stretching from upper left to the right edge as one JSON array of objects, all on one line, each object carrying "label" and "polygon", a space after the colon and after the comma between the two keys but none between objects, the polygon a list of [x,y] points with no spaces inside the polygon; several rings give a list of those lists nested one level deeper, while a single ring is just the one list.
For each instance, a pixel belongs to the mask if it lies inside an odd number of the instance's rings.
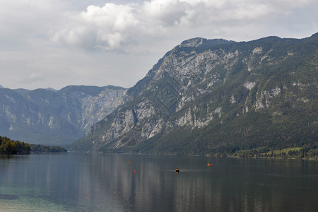
[{"label": "long white cloud bank stretching from upper left to the right edge", "polygon": [[54,33],[52,40],[86,50],[129,51],[133,48],[131,45],[150,38],[164,39],[176,30],[209,26],[222,31],[235,28],[235,24],[243,25],[242,28],[251,22],[261,24],[310,2],[152,0],[124,5],[91,5],[86,11],[69,16],[73,25]]}]

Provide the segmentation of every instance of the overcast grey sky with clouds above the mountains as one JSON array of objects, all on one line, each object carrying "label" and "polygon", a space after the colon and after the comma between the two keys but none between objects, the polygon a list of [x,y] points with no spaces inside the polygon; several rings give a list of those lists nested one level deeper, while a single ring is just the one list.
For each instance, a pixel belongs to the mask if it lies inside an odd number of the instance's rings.
[{"label": "overcast grey sky with clouds above the mountains", "polygon": [[0,85],[134,86],[193,37],[318,33],[311,0],[0,0]]}]

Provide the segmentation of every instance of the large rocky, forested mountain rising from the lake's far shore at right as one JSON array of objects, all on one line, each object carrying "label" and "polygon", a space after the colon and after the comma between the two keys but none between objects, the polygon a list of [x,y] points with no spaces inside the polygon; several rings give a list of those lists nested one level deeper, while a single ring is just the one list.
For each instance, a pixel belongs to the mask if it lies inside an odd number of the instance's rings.
[{"label": "large rocky, forested mountain rising from the lake's far shore at right", "polygon": [[186,40],[73,151],[228,154],[318,146],[318,33]]}]

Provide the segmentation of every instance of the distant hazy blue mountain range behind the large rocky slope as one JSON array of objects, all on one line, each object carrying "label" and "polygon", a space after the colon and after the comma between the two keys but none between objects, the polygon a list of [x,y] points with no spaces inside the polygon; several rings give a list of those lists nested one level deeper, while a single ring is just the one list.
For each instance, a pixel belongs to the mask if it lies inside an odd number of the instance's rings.
[{"label": "distant hazy blue mountain range behind the large rocky slope", "polygon": [[67,86],[0,89],[0,134],[28,143],[69,146],[122,103],[125,88]]}]

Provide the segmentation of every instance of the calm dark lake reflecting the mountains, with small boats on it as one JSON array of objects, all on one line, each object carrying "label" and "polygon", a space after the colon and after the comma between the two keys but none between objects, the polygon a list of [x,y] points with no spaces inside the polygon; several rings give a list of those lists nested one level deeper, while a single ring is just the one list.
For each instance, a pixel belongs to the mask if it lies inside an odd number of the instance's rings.
[{"label": "calm dark lake reflecting the mountains, with small boats on it", "polygon": [[0,211],[317,211],[317,168],[301,160],[0,155]]}]

